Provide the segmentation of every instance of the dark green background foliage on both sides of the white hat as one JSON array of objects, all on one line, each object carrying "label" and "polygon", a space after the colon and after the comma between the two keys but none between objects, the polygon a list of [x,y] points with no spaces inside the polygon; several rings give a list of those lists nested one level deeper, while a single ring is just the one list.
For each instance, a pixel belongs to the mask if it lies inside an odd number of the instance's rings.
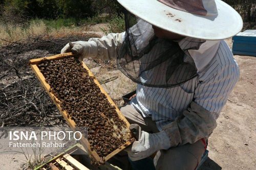
[{"label": "dark green background foliage on both sides of the white hat", "polygon": [[[255,0],[223,1],[241,14],[244,22],[248,22],[248,27],[255,25]],[[73,24],[101,23],[110,17],[110,32],[120,32],[124,26],[123,7],[116,0],[0,0],[0,5],[0,21],[17,25],[26,25],[27,20],[40,18],[48,19],[47,24],[51,27],[69,27]],[[108,17],[99,17],[103,13],[108,14]],[[55,22],[52,19],[57,20]]]}]

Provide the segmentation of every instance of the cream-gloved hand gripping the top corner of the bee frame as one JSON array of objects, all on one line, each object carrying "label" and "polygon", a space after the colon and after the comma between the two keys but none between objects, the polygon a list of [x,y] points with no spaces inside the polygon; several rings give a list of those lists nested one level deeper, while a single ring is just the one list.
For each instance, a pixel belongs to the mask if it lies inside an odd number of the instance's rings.
[{"label": "cream-gloved hand gripping the top corner of the bee frame", "polygon": [[83,58],[94,58],[98,54],[98,45],[95,41],[75,41],[65,45],[61,54],[72,52],[81,61]]}]

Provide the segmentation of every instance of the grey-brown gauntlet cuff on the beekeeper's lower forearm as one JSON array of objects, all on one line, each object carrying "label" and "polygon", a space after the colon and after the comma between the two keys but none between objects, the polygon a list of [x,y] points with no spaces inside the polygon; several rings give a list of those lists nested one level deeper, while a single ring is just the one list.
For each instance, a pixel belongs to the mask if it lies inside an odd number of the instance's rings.
[{"label": "grey-brown gauntlet cuff on the beekeeper's lower forearm", "polygon": [[183,115],[166,125],[163,130],[169,138],[169,147],[176,147],[208,138],[216,126],[216,120],[208,110],[191,102]]}]

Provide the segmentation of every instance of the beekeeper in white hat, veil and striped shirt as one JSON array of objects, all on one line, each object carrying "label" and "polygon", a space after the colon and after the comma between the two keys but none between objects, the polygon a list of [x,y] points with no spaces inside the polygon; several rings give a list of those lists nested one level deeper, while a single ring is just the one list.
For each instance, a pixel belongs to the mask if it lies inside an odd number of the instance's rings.
[{"label": "beekeeper in white hat, veil and striped shirt", "polygon": [[241,31],[242,19],[219,0],[118,2],[125,32],[76,41],[61,53],[115,59],[137,83],[136,97],[121,108],[142,129],[128,152],[134,169],[196,169],[239,79],[223,39]]}]

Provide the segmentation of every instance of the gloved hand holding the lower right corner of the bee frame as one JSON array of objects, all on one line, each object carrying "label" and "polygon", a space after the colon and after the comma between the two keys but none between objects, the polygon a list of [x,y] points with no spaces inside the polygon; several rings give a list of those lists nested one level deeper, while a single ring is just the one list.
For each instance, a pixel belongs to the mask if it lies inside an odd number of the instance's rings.
[{"label": "gloved hand holding the lower right corner of the bee frame", "polygon": [[[134,132],[133,130],[136,126],[139,127],[139,125],[136,124],[132,124],[130,126],[132,132]],[[136,129],[140,129],[140,127]],[[141,135],[138,135],[138,132],[136,133],[137,136],[139,136],[138,141],[133,143],[131,151],[126,150],[132,161],[147,158],[156,151],[167,150],[170,148],[170,139],[165,131],[158,133],[147,133],[145,131],[141,131]]]}]

